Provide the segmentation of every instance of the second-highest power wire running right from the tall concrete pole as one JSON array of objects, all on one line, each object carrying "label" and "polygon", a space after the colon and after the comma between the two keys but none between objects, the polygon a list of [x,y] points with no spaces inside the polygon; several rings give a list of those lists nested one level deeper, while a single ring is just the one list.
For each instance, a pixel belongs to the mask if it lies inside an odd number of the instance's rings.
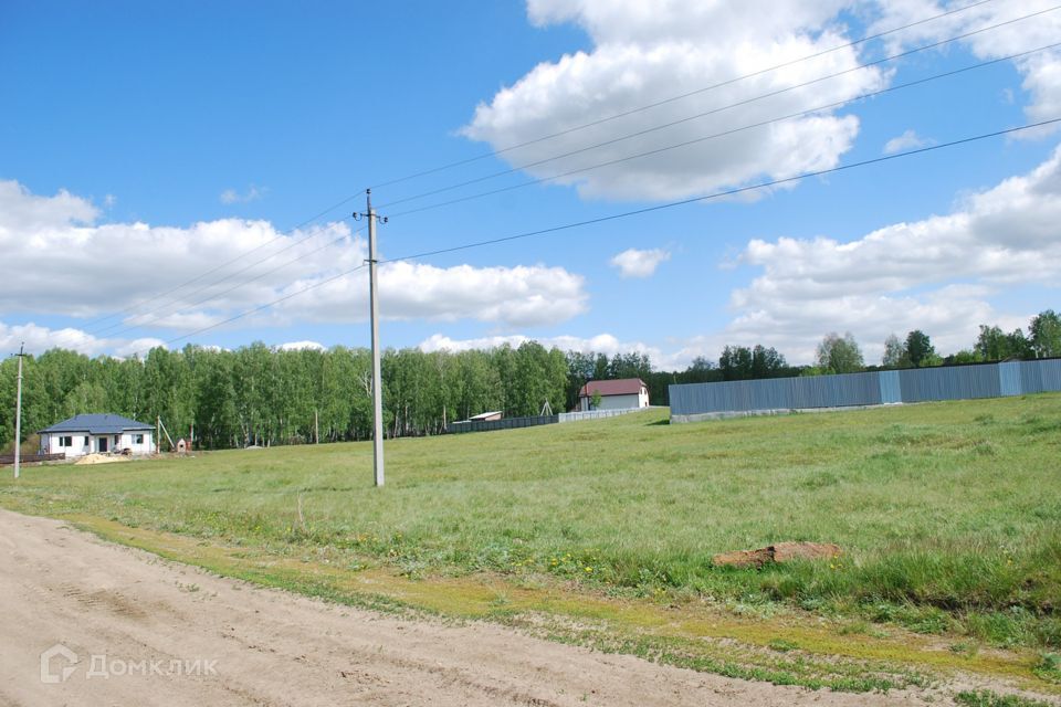
[{"label": "second-highest power wire running right from the tall concrete pole", "polygon": [[[603,141],[601,141],[601,143],[597,143],[597,144],[589,145],[589,146],[586,146],[586,147],[580,147],[580,148],[577,148],[577,149],[574,149],[574,150],[568,150],[568,151],[565,151],[565,152],[560,152],[560,154],[557,154],[557,155],[553,155],[551,157],[546,157],[546,158],[537,159],[537,160],[534,160],[534,161],[530,161],[530,162],[526,162],[526,163],[523,163],[523,165],[517,165],[517,166],[515,166],[515,167],[511,167],[511,168],[508,168],[508,169],[504,169],[504,170],[501,170],[501,171],[497,171],[497,172],[492,172],[492,173],[490,173],[490,175],[485,175],[485,176],[482,176],[482,177],[476,177],[476,178],[474,178],[474,179],[468,179],[468,180],[464,180],[464,181],[461,181],[461,182],[458,182],[458,183],[454,183],[454,184],[449,184],[449,186],[445,186],[445,187],[440,187],[440,188],[438,188],[438,189],[432,189],[432,190],[429,190],[429,191],[420,192],[420,193],[418,193],[418,194],[412,194],[412,196],[410,196],[410,197],[405,197],[405,198],[402,198],[402,199],[396,199],[396,200],[390,201],[390,202],[388,202],[388,203],[381,204],[379,208],[380,208],[380,209],[388,209],[388,208],[390,208],[390,207],[395,207],[395,205],[398,205],[398,204],[401,204],[401,203],[407,203],[407,202],[410,202],[410,201],[417,201],[417,200],[419,200],[419,199],[424,199],[424,198],[427,198],[427,197],[431,197],[431,196],[434,196],[434,194],[443,193],[443,192],[447,192],[447,191],[453,191],[454,189],[460,189],[460,188],[462,188],[462,187],[468,187],[468,186],[475,184],[475,183],[480,183],[480,182],[483,182],[483,181],[489,181],[489,180],[491,180],[491,179],[496,179],[496,178],[498,178],[498,177],[505,177],[505,176],[507,176],[507,175],[512,175],[512,173],[515,173],[515,172],[518,172],[518,171],[524,171],[524,170],[527,170],[527,169],[529,169],[529,168],[532,168],[532,167],[538,167],[538,166],[540,166],[540,165],[545,165],[545,163],[548,163],[548,162],[553,162],[553,161],[556,161],[556,160],[558,160],[558,159],[564,159],[564,158],[566,158],[566,157],[572,157],[572,156],[575,156],[575,155],[581,155],[581,154],[584,154],[584,152],[588,152],[588,151],[591,151],[591,150],[595,150],[595,149],[599,149],[599,148],[601,148],[601,147],[607,147],[607,146],[609,146],[609,145],[614,145],[614,144],[617,144],[617,143],[621,143],[621,141],[624,141],[624,140],[629,140],[629,139],[632,139],[632,138],[635,138],[635,137],[642,137],[642,136],[649,135],[649,134],[651,134],[651,133],[658,133],[658,131],[660,131],[660,130],[664,130],[664,129],[666,129],[666,128],[671,128],[671,127],[674,127],[674,126],[677,126],[677,125],[682,125],[682,124],[685,124],[685,123],[690,123],[690,122],[692,122],[692,120],[698,120],[700,118],[705,118],[705,117],[711,116],[711,115],[716,115],[716,114],[718,114],[718,113],[723,113],[723,112],[729,110],[729,109],[732,109],[732,108],[737,108],[737,107],[740,107],[740,106],[746,106],[746,105],[749,105],[749,104],[752,104],[752,103],[757,103],[757,102],[759,102],[759,101],[764,101],[764,99],[766,99],[766,98],[773,98],[773,97],[775,97],[775,96],[779,96],[779,95],[781,95],[781,94],[786,94],[786,93],[789,93],[789,92],[792,92],[792,91],[797,91],[797,89],[799,89],[799,88],[806,88],[806,87],[808,87],[808,86],[811,86],[811,85],[821,83],[821,82],[823,82],[823,81],[829,81],[830,78],[837,78],[838,76],[843,76],[843,75],[851,74],[851,73],[854,73],[854,72],[863,71],[863,70],[866,70],[866,68],[871,68],[871,67],[873,67],[873,66],[878,66],[878,65],[880,65],[880,64],[884,64],[884,63],[887,63],[887,62],[893,62],[893,61],[895,61],[895,60],[903,59],[903,57],[905,57],[905,56],[910,56],[910,55],[913,55],[913,54],[917,54],[917,53],[920,53],[920,52],[924,52],[924,51],[928,51],[928,50],[932,50],[932,49],[936,49],[936,48],[943,46],[943,45],[945,45],[945,44],[950,44],[950,43],[957,42],[957,41],[959,41],[959,40],[968,39],[968,38],[974,36],[974,35],[976,35],[976,34],[981,34],[981,33],[988,32],[988,31],[990,31],[990,30],[996,30],[996,29],[998,29],[998,28],[1000,28],[1000,27],[1006,27],[1006,25],[1009,25],[1009,24],[1013,24],[1013,23],[1016,23],[1016,22],[1021,22],[1021,21],[1023,21],[1023,20],[1029,20],[1029,19],[1031,19],[1031,18],[1036,18],[1036,17],[1046,14],[1046,13],[1048,13],[1048,12],[1053,12],[1053,11],[1059,10],[1059,9],[1061,9],[1061,4],[1054,6],[1054,7],[1052,7],[1052,8],[1046,9],[1046,10],[1039,10],[1039,11],[1037,11],[1037,12],[1032,12],[1032,13],[1029,13],[1029,14],[1025,14],[1025,15],[1021,15],[1021,17],[1019,17],[1019,18],[1013,18],[1013,19],[1010,19],[1010,20],[1006,20],[1006,21],[1004,21],[1004,22],[998,22],[998,23],[996,23],[996,24],[991,24],[991,25],[988,25],[988,27],[984,27],[984,28],[980,28],[980,29],[978,29],[978,30],[973,30],[973,31],[969,31],[969,32],[965,32],[965,33],[962,33],[962,34],[952,36],[952,38],[949,38],[949,39],[939,40],[939,41],[933,42],[933,43],[931,43],[931,44],[924,44],[924,45],[922,45],[922,46],[917,46],[917,48],[914,48],[914,49],[911,49],[911,50],[906,50],[906,51],[900,52],[900,53],[897,53],[897,54],[892,54],[892,55],[890,55],[890,56],[884,56],[884,57],[882,57],[882,59],[878,59],[878,60],[874,60],[874,61],[869,62],[869,63],[865,63],[865,64],[859,64],[858,66],[852,66],[852,67],[845,68],[845,70],[843,70],[843,71],[839,71],[839,72],[836,72],[836,73],[832,73],[832,74],[827,74],[827,75],[824,75],[824,76],[819,76],[819,77],[817,77],[817,78],[812,78],[812,80],[809,80],[809,81],[805,81],[805,82],[799,83],[799,84],[795,84],[795,85],[791,85],[791,86],[786,86],[786,87],[784,87],[784,88],[778,88],[778,89],[776,89],[776,91],[770,91],[770,92],[768,92],[768,93],[759,94],[759,95],[757,95],[757,96],[753,96],[753,97],[750,97],[750,98],[745,98],[745,99],[738,101],[738,102],[736,102],[736,103],[731,103],[731,104],[727,104],[727,105],[724,105],[724,106],[719,106],[719,107],[716,107],[716,108],[712,108],[711,110],[705,110],[705,112],[702,112],[702,113],[697,113],[697,114],[695,114],[695,115],[686,116],[686,117],[680,118],[680,119],[677,119],[677,120],[671,120],[671,122],[663,123],[663,124],[660,124],[660,125],[651,126],[651,127],[648,127],[648,128],[644,128],[644,129],[641,129],[641,130],[637,130],[637,131],[634,131],[634,133],[629,133],[629,134],[627,134],[627,135],[621,135],[621,136],[619,136],[619,137],[614,137],[614,138],[610,138],[610,139],[608,139],[608,140],[603,140]],[[853,99],[853,98],[852,98],[852,99]],[[406,213],[410,213],[410,212],[407,211]],[[391,215],[398,215],[398,214],[391,214]]]}]

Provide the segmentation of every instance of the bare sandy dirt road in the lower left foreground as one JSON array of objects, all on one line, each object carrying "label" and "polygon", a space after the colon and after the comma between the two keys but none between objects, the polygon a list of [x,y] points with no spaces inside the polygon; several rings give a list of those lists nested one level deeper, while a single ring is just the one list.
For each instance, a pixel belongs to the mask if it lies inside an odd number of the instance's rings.
[{"label": "bare sandy dirt road in the lower left foreground", "polygon": [[0,510],[0,705],[920,701],[747,683],[497,626],[381,616]]}]

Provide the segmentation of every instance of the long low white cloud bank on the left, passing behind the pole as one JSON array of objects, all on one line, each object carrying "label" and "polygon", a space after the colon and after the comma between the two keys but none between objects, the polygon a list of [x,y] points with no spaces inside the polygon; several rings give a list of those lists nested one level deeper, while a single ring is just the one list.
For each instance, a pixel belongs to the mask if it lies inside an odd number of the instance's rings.
[{"label": "long low white cloud bank on the left, passing behind the pole", "polygon": [[[132,326],[195,330],[287,295],[294,296],[250,323],[367,319],[368,273],[359,268],[366,243],[345,223],[282,233],[242,219],[172,228],[99,224],[98,217],[91,202],[65,191],[39,197],[0,181],[0,252],[9,273],[0,281],[0,312],[78,318],[120,312],[111,324],[86,327],[107,338],[127,336]],[[391,319],[530,326],[570,318],[588,302],[580,275],[545,264],[395,262],[379,274],[380,312]]]}]

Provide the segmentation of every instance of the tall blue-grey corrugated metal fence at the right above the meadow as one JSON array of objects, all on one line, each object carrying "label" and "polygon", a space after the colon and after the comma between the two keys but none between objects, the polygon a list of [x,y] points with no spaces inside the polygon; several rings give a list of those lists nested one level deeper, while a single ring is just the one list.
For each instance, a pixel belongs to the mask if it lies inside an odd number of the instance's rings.
[{"label": "tall blue-grey corrugated metal fence at the right above the meadow", "polygon": [[1061,391],[1061,359],[671,386],[671,414],[845,408]]}]

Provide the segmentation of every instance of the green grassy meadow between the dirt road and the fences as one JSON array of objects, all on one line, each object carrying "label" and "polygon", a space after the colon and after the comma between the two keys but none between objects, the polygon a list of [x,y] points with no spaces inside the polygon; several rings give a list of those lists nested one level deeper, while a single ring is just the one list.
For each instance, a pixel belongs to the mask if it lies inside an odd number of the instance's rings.
[{"label": "green grassy meadow between the dirt road and the fences", "polygon": [[[1058,394],[686,425],[653,411],[399,440],[387,474],[371,486],[368,444],[216,452],[27,468],[0,482],[0,505],[340,573],[489,574],[841,618],[861,634],[902,626],[950,636],[955,653],[1031,648],[1036,674],[1061,678]],[[763,570],[711,562],[780,540],[845,553]]]}]

